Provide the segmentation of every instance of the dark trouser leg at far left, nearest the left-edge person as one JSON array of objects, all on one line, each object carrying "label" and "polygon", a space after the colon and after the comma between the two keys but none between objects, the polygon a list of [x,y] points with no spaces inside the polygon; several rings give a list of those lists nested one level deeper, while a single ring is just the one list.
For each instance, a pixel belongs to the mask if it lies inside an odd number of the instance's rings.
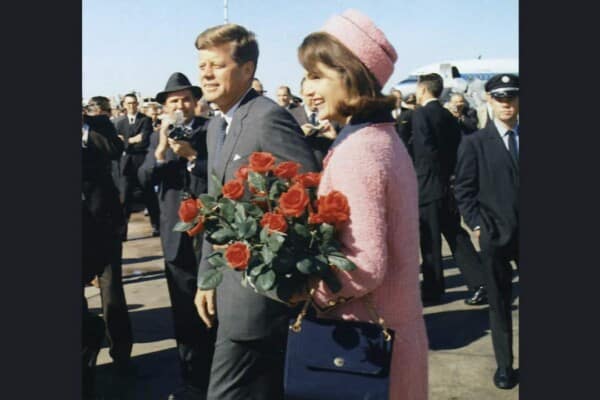
[{"label": "dark trouser leg at far left, nearest the left-edge person", "polygon": [[131,321],[123,290],[122,249],[122,242],[117,238],[113,243],[111,263],[99,278],[109,353],[115,362],[129,360],[133,343]]}]

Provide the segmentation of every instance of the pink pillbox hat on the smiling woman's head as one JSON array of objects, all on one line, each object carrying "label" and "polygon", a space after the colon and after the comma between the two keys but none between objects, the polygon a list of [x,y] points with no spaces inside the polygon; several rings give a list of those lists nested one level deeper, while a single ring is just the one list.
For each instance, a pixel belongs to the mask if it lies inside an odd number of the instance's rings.
[{"label": "pink pillbox hat on the smiling woman's head", "polygon": [[371,71],[383,88],[398,59],[394,46],[365,14],[346,10],[331,17],[321,29],[339,40]]}]

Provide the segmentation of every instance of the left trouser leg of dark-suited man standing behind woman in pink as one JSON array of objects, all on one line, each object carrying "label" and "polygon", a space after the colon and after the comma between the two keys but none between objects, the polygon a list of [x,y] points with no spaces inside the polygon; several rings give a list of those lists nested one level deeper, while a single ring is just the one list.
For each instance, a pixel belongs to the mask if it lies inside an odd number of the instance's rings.
[{"label": "left trouser leg of dark-suited man standing behind woman in pink", "polygon": [[426,296],[439,296],[444,293],[445,289],[439,217],[439,201],[436,200],[419,207],[423,291]]}]

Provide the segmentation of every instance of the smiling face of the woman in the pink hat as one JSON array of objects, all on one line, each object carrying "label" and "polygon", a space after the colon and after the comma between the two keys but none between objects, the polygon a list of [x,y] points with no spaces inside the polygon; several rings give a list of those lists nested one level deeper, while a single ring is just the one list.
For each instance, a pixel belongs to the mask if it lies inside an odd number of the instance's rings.
[{"label": "smiling face of the woman in the pink hat", "polygon": [[319,119],[346,123],[347,117],[338,111],[339,104],[347,98],[339,72],[318,62],[314,71],[306,72],[304,87],[306,96],[313,100]]}]

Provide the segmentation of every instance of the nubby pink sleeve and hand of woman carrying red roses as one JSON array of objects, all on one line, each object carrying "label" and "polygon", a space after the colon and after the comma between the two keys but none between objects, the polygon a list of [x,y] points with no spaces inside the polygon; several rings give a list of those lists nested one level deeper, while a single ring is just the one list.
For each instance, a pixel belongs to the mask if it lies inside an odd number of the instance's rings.
[{"label": "nubby pink sleeve and hand of woman carrying red roses", "polygon": [[340,242],[342,252],[356,269],[336,272],[342,284],[337,293],[320,283],[313,299],[321,307],[327,307],[330,300],[356,299],[372,292],[381,285],[388,264],[388,178],[379,155],[367,148],[360,153],[338,153],[327,168],[331,168],[332,186],[348,199],[350,220],[340,231]]}]

